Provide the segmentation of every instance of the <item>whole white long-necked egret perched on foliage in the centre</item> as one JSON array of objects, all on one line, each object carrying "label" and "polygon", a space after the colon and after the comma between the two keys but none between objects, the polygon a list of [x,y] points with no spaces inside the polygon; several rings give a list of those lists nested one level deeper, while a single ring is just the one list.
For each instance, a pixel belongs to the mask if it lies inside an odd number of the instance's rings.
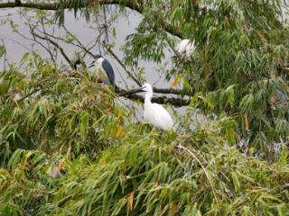
[{"label": "whole white long-necked egret perched on foliage in the centre", "polygon": [[142,91],[145,92],[144,121],[153,124],[158,129],[171,130],[173,121],[169,112],[162,105],[151,102],[151,98],[153,97],[152,85],[145,83],[142,86]]}]

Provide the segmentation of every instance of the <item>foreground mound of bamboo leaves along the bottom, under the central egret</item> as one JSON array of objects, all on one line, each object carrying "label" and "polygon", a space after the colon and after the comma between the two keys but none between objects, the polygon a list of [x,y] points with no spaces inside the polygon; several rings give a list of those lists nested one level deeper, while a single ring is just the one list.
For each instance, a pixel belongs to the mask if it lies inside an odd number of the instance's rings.
[{"label": "foreground mound of bamboo leaves along the bottom, under the central egret", "polygon": [[45,175],[47,156],[15,151],[10,171],[1,175],[0,202],[11,203],[3,209],[35,215],[285,215],[289,210],[283,188],[289,177],[286,150],[270,164],[212,143],[217,131],[194,130],[172,140],[142,128],[128,125],[126,130],[135,130],[97,159],[65,157],[68,172],[59,180]]}]

